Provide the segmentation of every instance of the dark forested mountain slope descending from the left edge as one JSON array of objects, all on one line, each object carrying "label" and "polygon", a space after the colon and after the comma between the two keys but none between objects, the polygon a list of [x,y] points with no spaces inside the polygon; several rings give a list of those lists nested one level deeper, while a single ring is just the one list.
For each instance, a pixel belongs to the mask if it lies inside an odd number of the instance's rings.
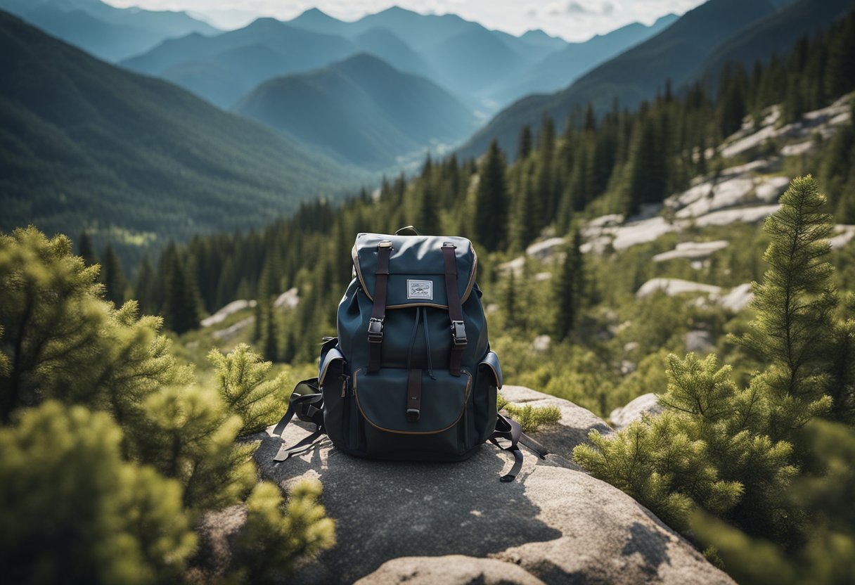
[{"label": "dark forested mountain slope descending from the left edge", "polygon": [[[0,13],[0,229],[84,228],[124,251],[254,227],[354,179],[281,133]],[[126,256],[127,257],[127,256]]]}]

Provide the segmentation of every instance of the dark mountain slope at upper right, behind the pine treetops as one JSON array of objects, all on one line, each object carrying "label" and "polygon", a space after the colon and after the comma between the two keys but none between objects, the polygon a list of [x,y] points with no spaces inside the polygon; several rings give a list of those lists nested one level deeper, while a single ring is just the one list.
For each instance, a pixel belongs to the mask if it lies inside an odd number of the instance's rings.
[{"label": "dark mountain slope at upper right, behind the pine treetops", "polygon": [[500,111],[458,151],[479,156],[493,139],[516,153],[520,128],[537,127],[547,112],[559,127],[575,107],[593,103],[598,112],[619,103],[633,109],[663,92],[696,80],[711,80],[728,62],[751,65],[783,50],[793,38],[812,34],[855,0],[709,0],[656,36],[593,68],[560,92],[522,98]]}]

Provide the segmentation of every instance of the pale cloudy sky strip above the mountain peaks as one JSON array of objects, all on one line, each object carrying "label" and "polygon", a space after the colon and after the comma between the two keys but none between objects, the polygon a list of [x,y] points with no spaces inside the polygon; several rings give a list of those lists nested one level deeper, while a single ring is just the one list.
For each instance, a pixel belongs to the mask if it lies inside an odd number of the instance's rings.
[{"label": "pale cloudy sky strip above the mountain peaks", "polygon": [[290,20],[319,8],[343,21],[392,5],[422,14],[456,14],[512,34],[540,28],[569,41],[610,32],[630,22],[651,24],[669,12],[681,15],[704,0],[104,0],[119,7],[186,10],[222,28],[242,27],[259,15]]}]

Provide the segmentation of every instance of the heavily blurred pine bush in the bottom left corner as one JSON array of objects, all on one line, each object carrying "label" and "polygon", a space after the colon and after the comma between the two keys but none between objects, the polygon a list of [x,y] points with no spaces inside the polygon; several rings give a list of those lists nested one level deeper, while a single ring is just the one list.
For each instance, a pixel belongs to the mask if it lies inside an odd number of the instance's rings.
[{"label": "heavily blurred pine bush in the bottom left corner", "polygon": [[178,482],[122,460],[103,412],[56,401],[0,428],[0,565],[9,582],[154,583],[196,546]]}]

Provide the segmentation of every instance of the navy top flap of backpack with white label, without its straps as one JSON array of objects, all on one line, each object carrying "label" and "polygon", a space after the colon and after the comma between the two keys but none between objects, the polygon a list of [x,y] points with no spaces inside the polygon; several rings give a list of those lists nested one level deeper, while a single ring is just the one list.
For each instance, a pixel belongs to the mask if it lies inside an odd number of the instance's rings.
[{"label": "navy top flap of backpack with white label, without its straps", "polygon": [[392,243],[389,276],[386,285],[386,308],[429,305],[448,308],[445,294],[445,260],[442,245],[455,246],[457,293],[465,303],[475,286],[478,259],[469,239],[451,236],[403,236],[360,233],[353,245],[353,266],[366,295],[374,300],[378,246]]}]

